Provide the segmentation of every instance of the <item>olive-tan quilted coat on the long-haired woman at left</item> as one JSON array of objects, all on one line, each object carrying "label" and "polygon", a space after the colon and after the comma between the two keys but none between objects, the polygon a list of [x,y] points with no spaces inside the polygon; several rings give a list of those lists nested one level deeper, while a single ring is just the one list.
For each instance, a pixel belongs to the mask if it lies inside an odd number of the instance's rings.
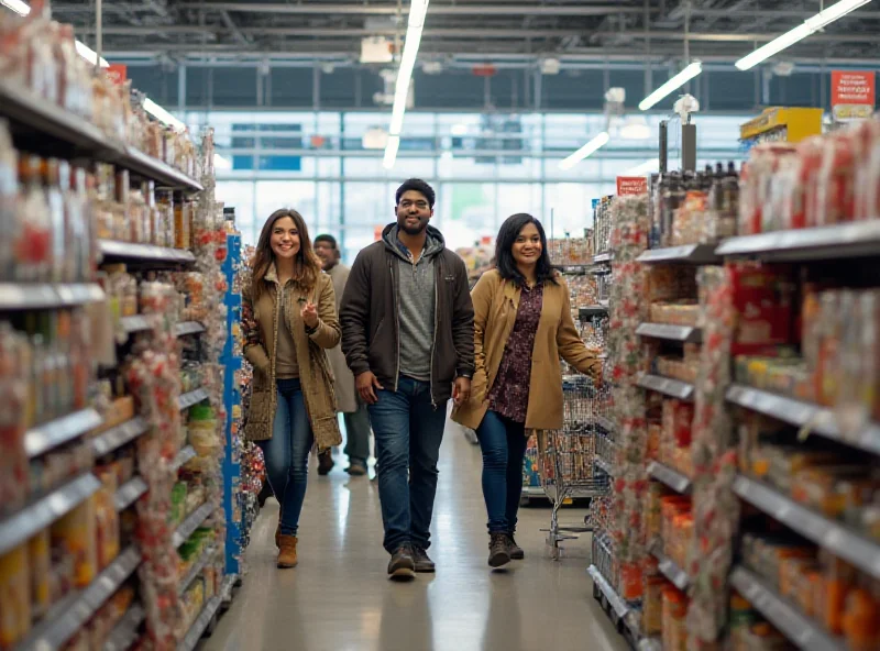
[{"label": "olive-tan quilted coat on the long-haired woman at left", "polygon": [[[244,356],[254,367],[253,393],[248,411],[244,435],[250,441],[272,438],[278,390],[275,386],[275,350],[278,329],[289,328],[294,335],[296,357],[299,364],[299,382],[306,402],[315,442],[326,450],[342,442],[337,420],[337,401],[333,389],[333,372],[327,358],[327,350],[339,344],[341,330],[337,317],[333,283],[327,274],[320,274],[316,287],[308,295],[295,283],[287,283],[285,310],[278,310],[278,291],[282,290],[273,265],[263,280],[265,291],[254,301],[250,279],[242,289],[242,334]],[[318,328],[311,334],[300,316],[306,300],[318,309]]]}]

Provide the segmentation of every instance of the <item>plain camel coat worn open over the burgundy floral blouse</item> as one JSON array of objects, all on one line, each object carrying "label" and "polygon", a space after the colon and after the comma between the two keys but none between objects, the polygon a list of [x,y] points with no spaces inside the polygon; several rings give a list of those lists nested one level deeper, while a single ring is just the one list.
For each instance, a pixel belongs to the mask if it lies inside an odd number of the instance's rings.
[{"label": "plain camel coat worn open over the burgundy floral blouse", "polygon": [[[474,361],[471,399],[452,411],[452,420],[471,429],[483,422],[488,394],[498,374],[504,349],[514,330],[522,290],[497,271],[483,274],[471,291],[474,302]],[[571,317],[569,286],[561,276],[543,286],[543,306],[531,353],[531,378],[526,429],[562,428],[560,356],[581,373],[598,377],[602,362],[578,334]]]}]

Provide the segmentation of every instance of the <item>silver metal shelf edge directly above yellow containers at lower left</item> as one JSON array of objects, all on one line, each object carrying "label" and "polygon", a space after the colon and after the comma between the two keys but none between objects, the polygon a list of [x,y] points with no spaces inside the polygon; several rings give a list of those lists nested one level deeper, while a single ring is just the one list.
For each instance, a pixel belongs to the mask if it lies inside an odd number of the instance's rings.
[{"label": "silver metal shelf edge directly above yellow containers at lower left", "polygon": [[66,515],[101,487],[87,472],[0,520],[0,554],[4,554]]}]

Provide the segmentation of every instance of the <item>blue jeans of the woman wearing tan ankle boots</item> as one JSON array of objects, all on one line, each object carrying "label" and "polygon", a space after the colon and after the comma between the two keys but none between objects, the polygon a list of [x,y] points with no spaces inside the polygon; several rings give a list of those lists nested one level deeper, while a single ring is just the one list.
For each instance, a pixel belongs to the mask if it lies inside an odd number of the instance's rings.
[{"label": "blue jeans of the woman wearing tan ankle boots", "polygon": [[258,441],[266,460],[266,474],[275,498],[282,505],[283,536],[296,536],[306,499],[309,451],[315,440],[299,379],[278,379],[278,406],[272,438]]}]

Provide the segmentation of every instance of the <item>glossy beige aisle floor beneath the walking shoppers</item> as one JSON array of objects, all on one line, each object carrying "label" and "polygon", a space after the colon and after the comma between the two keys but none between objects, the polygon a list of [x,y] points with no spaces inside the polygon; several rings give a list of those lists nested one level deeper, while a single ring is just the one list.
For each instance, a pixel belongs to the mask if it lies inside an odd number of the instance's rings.
[{"label": "glossy beige aisle floor beneath the walking shoppers", "polygon": [[277,505],[266,504],[249,550],[251,572],[201,651],[627,648],[592,597],[588,537],[569,543],[561,563],[547,558],[539,529],[548,509],[520,511],[526,561],[490,573],[480,453],[458,430],[447,431],[441,454],[430,550],[438,573],[414,583],[386,577],[376,484],[349,478],[340,465],[328,478],[310,475],[295,570],[275,567]]}]

